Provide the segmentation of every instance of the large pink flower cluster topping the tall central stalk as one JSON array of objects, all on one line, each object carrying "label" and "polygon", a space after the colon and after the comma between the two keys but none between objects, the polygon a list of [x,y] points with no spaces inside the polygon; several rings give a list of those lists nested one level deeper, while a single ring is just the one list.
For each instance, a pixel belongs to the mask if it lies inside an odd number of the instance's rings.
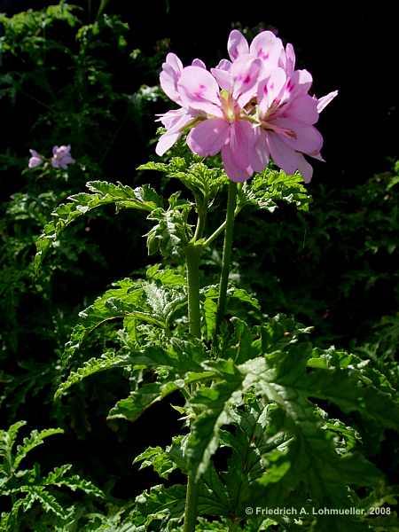
[{"label": "large pink flower cluster topping the tall central stalk", "polygon": [[256,35],[249,45],[234,29],[228,51],[231,60],[222,59],[210,72],[200,59],[184,67],[168,53],[160,86],[180,107],[160,115],[167,131],[156,153],[167,152],[189,132],[192,152],[203,157],[221,153],[232,181],[261,172],[271,157],[287,174],[298,170],[308,183],[313,168],[304,155],[323,160],[323,137],[315,124],[338,91],[310,96],[312,76],[295,70],[292,44],[284,48],[270,31]]}]

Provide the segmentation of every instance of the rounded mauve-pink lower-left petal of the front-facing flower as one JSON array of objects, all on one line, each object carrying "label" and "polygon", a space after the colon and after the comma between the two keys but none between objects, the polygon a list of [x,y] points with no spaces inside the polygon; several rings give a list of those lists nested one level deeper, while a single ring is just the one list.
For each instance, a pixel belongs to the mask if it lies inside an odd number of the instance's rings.
[{"label": "rounded mauve-pink lower-left petal of the front-facing flower", "polygon": [[187,145],[192,152],[202,157],[215,155],[221,151],[229,138],[230,124],[220,118],[212,118],[200,122],[190,131]]}]

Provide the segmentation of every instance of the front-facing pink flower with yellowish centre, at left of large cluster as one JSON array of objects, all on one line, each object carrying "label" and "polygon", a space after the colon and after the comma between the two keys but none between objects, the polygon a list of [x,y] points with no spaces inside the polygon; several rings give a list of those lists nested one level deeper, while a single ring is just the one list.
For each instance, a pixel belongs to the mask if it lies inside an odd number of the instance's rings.
[{"label": "front-facing pink flower with yellowish centre, at left of large cluster", "polygon": [[253,98],[261,69],[259,59],[242,54],[230,70],[207,70],[188,66],[178,82],[185,106],[207,113],[187,137],[194,153],[203,157],[222,154],[226,174],[233,181],[245,181],[254,173],[257,156],[252,118],[245,107]]}]

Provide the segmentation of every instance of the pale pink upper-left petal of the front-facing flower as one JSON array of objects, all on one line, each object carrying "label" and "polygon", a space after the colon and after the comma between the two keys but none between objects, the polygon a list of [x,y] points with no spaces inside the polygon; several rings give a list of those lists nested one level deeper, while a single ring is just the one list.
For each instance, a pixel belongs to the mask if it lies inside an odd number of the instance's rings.
[{"label": "pale pink upper-left petal of the front-facing flower", "polygon": [[177,89],[184,107],[222,116],[219,87],[214,76],[204,68],[186,66]]}]

